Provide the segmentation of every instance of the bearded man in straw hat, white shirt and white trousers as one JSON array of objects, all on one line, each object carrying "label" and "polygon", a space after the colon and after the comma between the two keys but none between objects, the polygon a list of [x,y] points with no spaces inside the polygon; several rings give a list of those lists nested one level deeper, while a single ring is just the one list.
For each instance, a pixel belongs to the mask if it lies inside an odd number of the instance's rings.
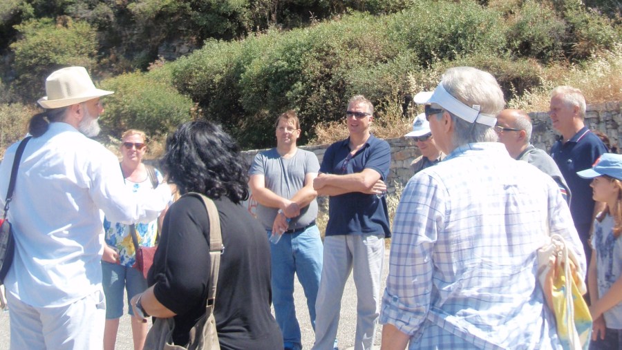
[{"label": "bearded man in straw hat, white shirt and white trousers", "polygon": [[[100,131],[100,97],[113,92],[95,88],[85,68],[53,72],[46,93],[38,101],[46,111],[30,119],[32,139],[8,211],[15,237],[4,281],[10,349],[101,349],[104,213],[127,224],[154,220],[171,191],[158,186],[144,197],[131,195],[117,157],[88,138]],[[10,146],[0,164],[0,193],[16,149]]]}]

